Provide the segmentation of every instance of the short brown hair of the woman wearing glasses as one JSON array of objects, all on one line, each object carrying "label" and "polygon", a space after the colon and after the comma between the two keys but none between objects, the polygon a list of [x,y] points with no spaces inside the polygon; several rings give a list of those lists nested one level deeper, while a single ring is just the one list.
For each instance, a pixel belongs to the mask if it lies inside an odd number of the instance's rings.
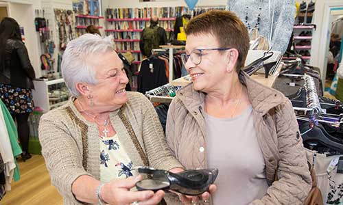
[{"label": "short brown hair of the woman wearing glasses", "polygon": [[239,56],[236,70],[244,66],[249,50],[249,34],[243,22],[233,13],[211,10],[191,19],[185,28],[186,35],[211,33],[221,47],[237,49]]}]

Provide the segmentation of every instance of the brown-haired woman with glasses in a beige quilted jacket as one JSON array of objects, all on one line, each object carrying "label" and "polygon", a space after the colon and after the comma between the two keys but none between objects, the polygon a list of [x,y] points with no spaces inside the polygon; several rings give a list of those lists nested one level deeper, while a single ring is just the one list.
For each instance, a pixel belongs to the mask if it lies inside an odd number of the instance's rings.
[{"label": "brown-haired woman with glasses in a beige quilted jacket", "polygon": [[213,10],[185,32],[182,60],[192,83],[176,93],[166,128],[176,158],[186,169],[219,169],[210,204],[303,204],[311,176],[294,111],[283,94],[241,71],[249,48],[244,24]]}]

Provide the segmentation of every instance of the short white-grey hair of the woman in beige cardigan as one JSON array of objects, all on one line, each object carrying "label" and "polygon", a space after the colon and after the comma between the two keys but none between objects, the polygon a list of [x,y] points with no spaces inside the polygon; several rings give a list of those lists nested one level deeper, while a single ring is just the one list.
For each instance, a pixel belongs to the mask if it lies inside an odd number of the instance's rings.
[{"label": "short white-grey hair of the woman in beige cardigan", "polygon": [[91,55],[115,51],[113,38],[102,38],[99,35],[86,33],[71,40],[62,57],[62,77],[72,96],[79,96],[76,83],[97,84],[95,69],[87,64],[86,59]]}]

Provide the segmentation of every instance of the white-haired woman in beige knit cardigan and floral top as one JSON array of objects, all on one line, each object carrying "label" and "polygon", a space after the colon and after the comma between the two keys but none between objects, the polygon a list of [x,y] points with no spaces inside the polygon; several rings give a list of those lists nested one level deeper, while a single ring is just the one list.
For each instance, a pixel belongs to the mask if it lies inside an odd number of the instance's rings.
[{"label": "white-haired woman in beige knit cardigan and floral top", "polygon": [[163,191],[130,191],[134,167],[182,169],[165,143],[152,104],[126,92],[123,63],[110,38],[85,34],[64,51],[62,76],[72,94],[40,120],[39,138],[51,182],[64,204],[158,204]]}]

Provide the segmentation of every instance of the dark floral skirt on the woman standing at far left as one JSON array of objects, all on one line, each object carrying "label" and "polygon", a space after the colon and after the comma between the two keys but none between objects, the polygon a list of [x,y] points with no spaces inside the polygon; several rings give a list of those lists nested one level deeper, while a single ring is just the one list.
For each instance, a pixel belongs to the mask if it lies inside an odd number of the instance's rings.
[{"label": "dark floral skirt on the woman standing at far left", "polygon": [[11,114],[30,113],[34,109],[32,91],[29,88],[0,83],[0,98]]}]

